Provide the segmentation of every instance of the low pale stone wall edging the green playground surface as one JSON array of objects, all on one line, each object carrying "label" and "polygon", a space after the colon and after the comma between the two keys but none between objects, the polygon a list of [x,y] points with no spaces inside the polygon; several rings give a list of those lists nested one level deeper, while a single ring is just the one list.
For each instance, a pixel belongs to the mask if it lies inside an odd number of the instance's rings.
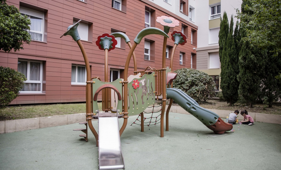
[{"label": "low pale stone wall edging the green playground surface", "polygon": [[[216,109],[208,109],[208,110],[211,110],[212,112],[218,114],[219,117],[221,118],[226,118],[226,116],[228,116],[230,112],[232,113],[234,112],[234,110],[216,110]],[[151,112],[152,108],[147,108],[145,111]],[[189,114],[186,110],[184,110],[180,106],[172,106],[170,112]],[[281,124],[281,115],[261,114],[261,113],[251,113],[251,112],[249,112],[248,114],[252,116],[254,121],[256,122],[258,121],[264,123]],[[243,120],[243,116],[239,115],[238,120]],[[85,113],[0,121],[0,134],[38,129],[44,127],[60,126],[66,124],[74,124],[84,121],[86,121]],[[96,121],[96,119],[93,119],[93,121]]]}]

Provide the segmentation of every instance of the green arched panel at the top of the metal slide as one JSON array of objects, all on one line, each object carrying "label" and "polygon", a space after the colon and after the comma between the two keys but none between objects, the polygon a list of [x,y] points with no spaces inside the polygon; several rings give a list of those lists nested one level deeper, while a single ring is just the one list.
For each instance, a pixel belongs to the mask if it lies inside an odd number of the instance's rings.
[{"label": "green arched panel at the top of the metal slide", "polygon": [[[95,83],[93,83],[93,86],[92,86],[92,88],[93,88],[93,96],[95,95],[95,92],[98,90],[98,88],[101,87],[104,84],[111,84],[111,85],[113,85],[114,87],[116,87],[116,89],[122,95],[122,79],[117,79],[117,80],[115,80],[113,82],[103,82],[103,81],[100,81],[98,79],[93,79],[92,81],[95,82]],[[119,110],[118,111],[119,113],[122,112],[122,99],[118,100],[118,104],[117,104],[116,109],[117,109],[117,111]],[[95,112],[96,110],[99,110],[98,100],[96,100],[96,101],[93,100],[93,112],[96,113]],[[102,111],[102,110],[99,110],[99,111]]]}]

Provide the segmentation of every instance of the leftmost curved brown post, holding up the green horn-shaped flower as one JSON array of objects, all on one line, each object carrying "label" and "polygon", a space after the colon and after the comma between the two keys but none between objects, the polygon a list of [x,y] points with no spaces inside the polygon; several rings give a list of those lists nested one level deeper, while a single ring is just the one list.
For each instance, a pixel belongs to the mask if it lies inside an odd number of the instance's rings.
[{"label": "leftmost curved brown post, holding up the green horn-shaped flower", "polygon": [[[81,52],[83,54],[84,60],[85,60],[85,65],[86,65],[86,71],[87,71],[87,81],[91,81],[91,70],[90,70],[90,64],[89,64],[89,60],[86,54],[86,51],[80,41],[77,40],[77,44],[81,49]],[[92,124],[92,117],[91,117],[91,84],[87,83],[86,84],[86,115],[87,115],[87,121],[88,121],[88,125],[89,128],[91,129],[92,133],[95,136],[95,141],[96,141],[96,146],[99,146],[99,135],[98,133],[95,131],[95,128],[93,127]]]}]

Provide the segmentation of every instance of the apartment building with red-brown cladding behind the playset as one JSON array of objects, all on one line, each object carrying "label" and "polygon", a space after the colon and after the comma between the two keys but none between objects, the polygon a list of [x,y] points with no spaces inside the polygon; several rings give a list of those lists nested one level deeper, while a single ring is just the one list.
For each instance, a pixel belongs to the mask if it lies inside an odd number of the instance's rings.
[{"label": "apartment building with red-brown cladding behind the playset", "polygon": [[[187,43],[178,46],[173,68],[196,68],[196,43],[198,27],[190,20],[187,0],[7,0],[31,19],[29,33],[32,41],[19,52],[0,51],[0,65],[25,74],[27,81],[19,97],[11,104],[63,103],[85,101],[86,69],[82,53],[70,36],[60,36],[82,19],[79,35],[89,58],[92,77],[104,80],[104,51],[95,41],[102,33],[124,32],[131,43],[139,31],[146,27],[163,26],[157,16],[167,15],[177,19],[180,26],[172,31],[183,31]],[[170,10],[171,9],[171,10]],[[193,19],[193,18],[192,18]],[[109,52],[109,80],[124,78],[124,65],[129,46],[118,39]],[[138,70],[147,66],[162,67],[163,37],[146,36],[135,49]],[[167,41],[166,66],[170,64],[174,42]],[[194,56],[195,55],[195,56]],[[193,58],[192,58],[193,56]],[[129,73],[133,74],[131,60]],[[100,99],[99,99],[100,100]]]}]

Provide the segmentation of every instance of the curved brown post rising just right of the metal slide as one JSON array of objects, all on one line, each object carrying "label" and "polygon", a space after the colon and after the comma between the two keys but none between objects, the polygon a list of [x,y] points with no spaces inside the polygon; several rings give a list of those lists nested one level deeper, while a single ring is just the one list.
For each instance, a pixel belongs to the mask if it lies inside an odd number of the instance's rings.
[{"label": "curved brown post rising just right of the metal slide", "polygon": [[129,63],[132,57],[132,54],[135,50],[135,47],[137,46],[137,43],[134,43],[132,45],[132,48],[129,51],[126,64],[125,64],[125,69],[124,69],[124,122],[123,125],[119,131],[120,136],[122,135],[123,131],[125,130],[127,123],[128,123],[128,70],[129,70]]}]

